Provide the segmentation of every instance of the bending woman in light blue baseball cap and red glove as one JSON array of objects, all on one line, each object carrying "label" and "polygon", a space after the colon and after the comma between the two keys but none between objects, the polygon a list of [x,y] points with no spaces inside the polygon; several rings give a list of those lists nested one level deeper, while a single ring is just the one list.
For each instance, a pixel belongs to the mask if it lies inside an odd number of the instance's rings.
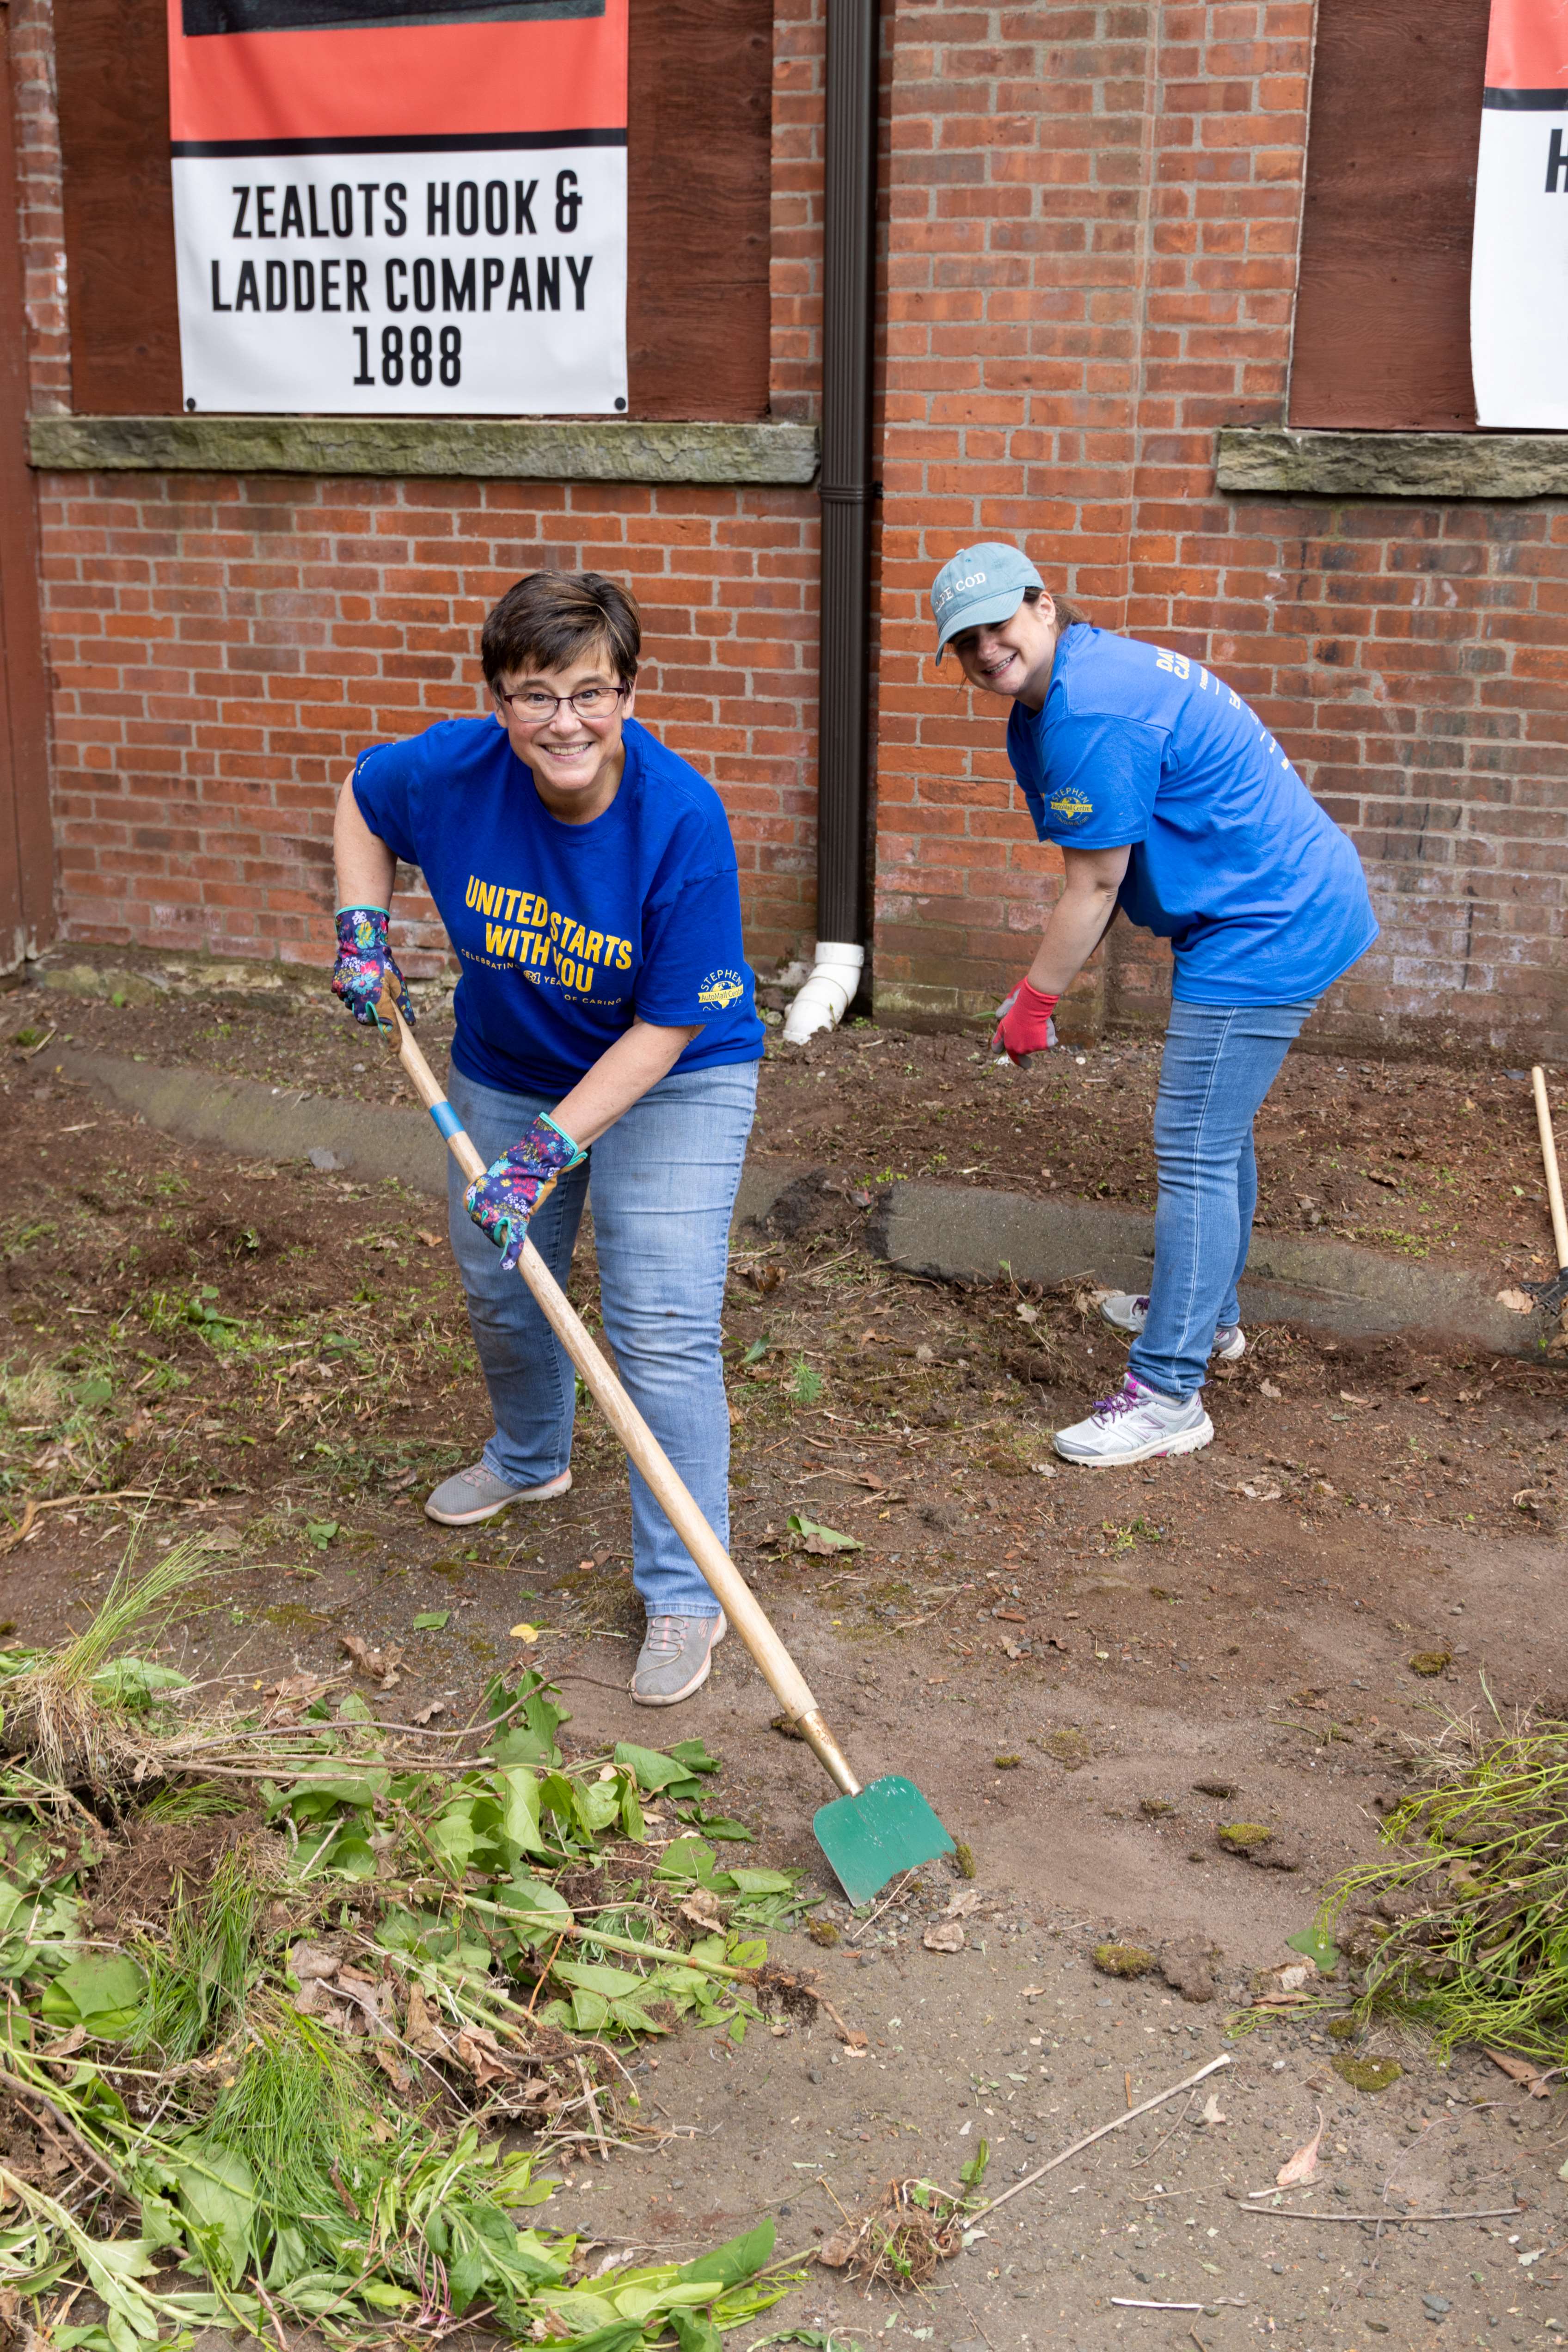
[{"label": "bending woman in light blue baseball cap and red glove", "polygon": [[1065,866],[992,1044],[1013,1063],[1056,1044],[1056,1002],[1119,906],[1173,950],[1154,1275],[1147,1298],[1103,1303],[1133,1334],[1128,1374],[1056,1451],[1091,1468],[1194,1454],[1213,1437],[1208,1359],[1246,1348],[1253,1117],[1321,993],[1378,936],[1361,858],[1239,694],[1187,654],[1093,628],[1018,548],[964,548],[931,612],[938,661],[952,647],[971,687],[1011,701],[1006,753]]}]

